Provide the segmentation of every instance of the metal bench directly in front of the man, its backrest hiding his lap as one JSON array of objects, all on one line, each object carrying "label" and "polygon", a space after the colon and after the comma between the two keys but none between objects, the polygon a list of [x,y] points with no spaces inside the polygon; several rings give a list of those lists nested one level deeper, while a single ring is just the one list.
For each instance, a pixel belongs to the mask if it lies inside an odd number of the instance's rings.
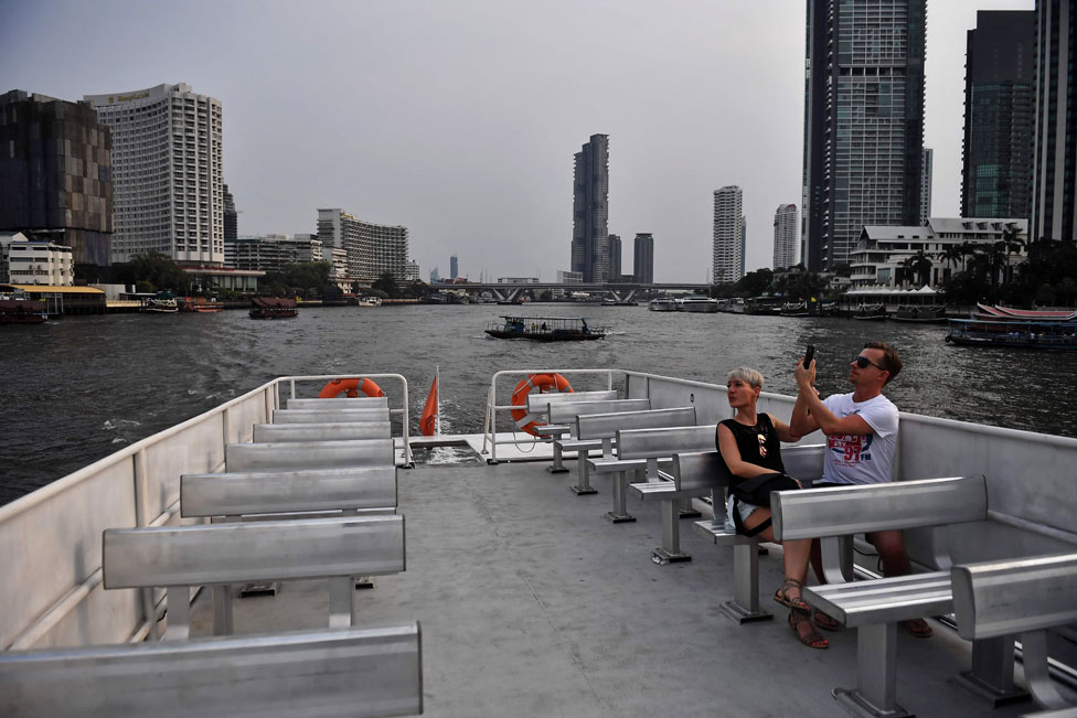
[{"label": "metal bench directly in front of the man, its backrest hiding his lap", "polygon": [[[854,715],[907,715],[896,701],[897,622],[952,610],[950,561],[937,551],[935,562],[946,570],[844,582],[853,578],[852,539],[876,531],[985,521],[984,478],[781,491],[771,494],[770,506],[779,540],[821,539],[831,583],[804,589],[804,600],[857,630],[856,687],[835,688],[834,697]],[[995,701],[1020,695],[1013,689],[1012,651],[1011,644],[1007,656],[999,641],[973,642],[972,671],[966,674],[970,687]]]}]

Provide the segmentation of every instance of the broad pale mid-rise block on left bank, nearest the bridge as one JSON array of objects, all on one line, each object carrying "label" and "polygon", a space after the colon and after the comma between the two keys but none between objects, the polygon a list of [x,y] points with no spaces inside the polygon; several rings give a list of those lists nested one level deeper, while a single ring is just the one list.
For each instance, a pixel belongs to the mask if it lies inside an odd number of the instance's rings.
[{"label": "broad pale mid-rise block on left bank, nearest the bridge", "polygon": [[373,282],[385,272],[397,281],[407,276],[407,227],[364,222],[339,207],[318,210],[318,238],[323,247],[348,253],[348,277]]}]

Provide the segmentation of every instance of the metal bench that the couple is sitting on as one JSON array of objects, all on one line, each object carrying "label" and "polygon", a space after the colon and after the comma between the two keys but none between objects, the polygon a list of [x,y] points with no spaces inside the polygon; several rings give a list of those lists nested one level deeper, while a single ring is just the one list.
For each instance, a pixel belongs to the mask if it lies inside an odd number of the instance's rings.
[{"label": "metal bench that the couple is sitting on", "polygon": [[[800,479],[806,486],[822,476],[823,456],[825,444],[802,444],[782,447],[781,460],[786,472]],[[758,537],[747,537],[729,531],[726,524],[726,489],[736,480],[726,470],[717,451],[704,453],[682,453],[673,458],[671,471],[675,489],[690,491],[692,495],[711,494],[711,506],[714,508],[713,519],[695,523],[695,528],[718,546],[733,547],[733,600],[722,606],[722,612],[739,623],[763,621],[774,618],[769,611],[763,610],[759,603],[759,549],[763,540]],[[636,487],[638,484],[632,484]],[[657,489],[653,497],[662,499],[660,490],[670,491],[662,484],[653,484]],[[663,504],[664,508],[664,504]],[[665,514],[663,514],[664,521]],[[665,544],[663,524],[663,547],[672,551],[680,548],[680,544]],[[659,551],[661,549],[654,549]]]}]

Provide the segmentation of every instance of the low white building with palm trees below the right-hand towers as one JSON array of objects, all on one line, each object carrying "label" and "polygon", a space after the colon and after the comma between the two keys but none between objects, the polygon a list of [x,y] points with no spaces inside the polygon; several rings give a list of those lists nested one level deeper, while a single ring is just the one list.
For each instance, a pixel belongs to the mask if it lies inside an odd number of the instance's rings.
[{"label": "low white building with palm trees below the right-hand towers", "polygon": [[[1007,233],[1027,240],[1027,219],[932,217],[921,227],[864,227],[850,254],[853,289],[896,289],[910,285],[904,262],[923,251],[931,260],[928,283],[940,286],[964,270],[969,257],[946,256],[947,248],[968,245],[983,247],[1001,242]],[[1006,271],[1026,260],[1024,248],[1007,255]]]}]

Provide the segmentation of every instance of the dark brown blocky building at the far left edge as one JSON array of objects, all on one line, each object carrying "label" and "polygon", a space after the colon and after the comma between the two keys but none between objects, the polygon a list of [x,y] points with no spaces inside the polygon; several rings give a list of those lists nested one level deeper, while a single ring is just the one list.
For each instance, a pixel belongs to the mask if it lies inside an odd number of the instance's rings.
[{"label": "dark brown blocky building at the far left edge", "polygon": [[108,266],[113,141],[82,103],[0,95],[0,231],[71,247],[74,264]]}]

